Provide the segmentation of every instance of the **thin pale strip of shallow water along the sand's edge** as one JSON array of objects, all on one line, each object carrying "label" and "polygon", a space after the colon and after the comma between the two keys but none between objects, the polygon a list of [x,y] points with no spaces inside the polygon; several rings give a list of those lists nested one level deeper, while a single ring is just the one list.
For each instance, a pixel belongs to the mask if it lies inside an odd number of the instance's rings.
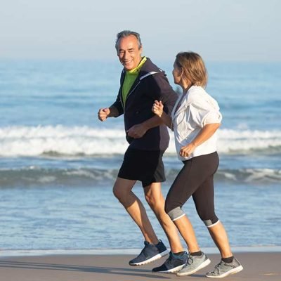
[{"label": "thin pale strip of shallow water along the sand's edge", "polygon": [[[169,248],[168,248],[169,249]],[[281,253],[281,246],[231,247],[233,253]],[[219,254],[216,247],[202,247],[206,254]],[[56,255],[137,255],[141,249],[0,249],[0,259],[9,256],[56,256]]]}]

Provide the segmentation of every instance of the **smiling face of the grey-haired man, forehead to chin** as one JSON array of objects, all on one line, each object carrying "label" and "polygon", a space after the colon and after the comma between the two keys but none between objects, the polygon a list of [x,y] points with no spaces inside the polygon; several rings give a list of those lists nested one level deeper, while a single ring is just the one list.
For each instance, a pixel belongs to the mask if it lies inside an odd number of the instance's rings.
[{"label": "smiling face of the grey-haired man, forehead to chin", "polygon": [[125,70],[133,70],[138,66],[142,51],[143,48],[138,48],[138,39],[135,36],[129,35],[119,39],[117,55]]}]

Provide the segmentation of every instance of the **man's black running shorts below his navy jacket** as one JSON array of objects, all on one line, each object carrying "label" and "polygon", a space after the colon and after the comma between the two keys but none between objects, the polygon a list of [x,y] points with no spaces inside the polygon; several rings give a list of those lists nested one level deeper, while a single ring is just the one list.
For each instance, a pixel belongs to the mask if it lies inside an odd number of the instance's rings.
[{"label": "man's black running shorts below his navy jacket", "polygon": [[161,150],[126,150],[118,177],[141,181],[143,188],[166,181]]}]

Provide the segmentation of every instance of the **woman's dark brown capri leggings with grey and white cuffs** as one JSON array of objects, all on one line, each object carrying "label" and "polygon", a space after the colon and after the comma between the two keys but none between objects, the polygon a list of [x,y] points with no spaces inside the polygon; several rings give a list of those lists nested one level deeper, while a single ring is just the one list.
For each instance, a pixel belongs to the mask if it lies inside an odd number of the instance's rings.
[{"label": "woman's dark brown capri leggings with grey and white cuffs", "polygon": [[192,196],[197,214],[207,227],[218,223],[214,211],[214,174],[218,169],[218,153],[193,157],[184,161],[166,196],[165,211],[172,221],[185,216],[181,209]]}]

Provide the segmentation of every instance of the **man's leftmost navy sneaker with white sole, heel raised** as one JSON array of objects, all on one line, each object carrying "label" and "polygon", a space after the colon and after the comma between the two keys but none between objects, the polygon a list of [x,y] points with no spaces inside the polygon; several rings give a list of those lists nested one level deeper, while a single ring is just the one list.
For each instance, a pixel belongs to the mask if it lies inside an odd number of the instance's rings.
[{"label": "man's leftmost navy sneaker with white sole, heel raised", "polygon": [[130,266],[143,266],[144,264],[151,263],[157,259],[162,258],[169,254],[169,250],[166,249],[165,245],[161,240],[157,245],[150,244],[145,241],[145,247],[142,249],[141,254],[139,254],[135,259],[129,261]]}]

